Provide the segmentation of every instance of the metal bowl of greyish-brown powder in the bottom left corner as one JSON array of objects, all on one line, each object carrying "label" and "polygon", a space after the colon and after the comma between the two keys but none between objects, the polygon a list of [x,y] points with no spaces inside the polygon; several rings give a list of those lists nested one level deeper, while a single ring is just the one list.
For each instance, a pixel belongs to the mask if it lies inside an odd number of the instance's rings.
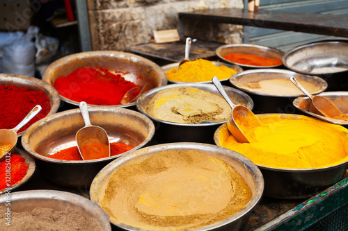
[{"label": "metal bowl of greyish-brown powder in the bottom left corner", "polygon": [[99,206],[65,191],[29,190],[3,194],[0,213],[0,230],[111,231],[108,216]]}]

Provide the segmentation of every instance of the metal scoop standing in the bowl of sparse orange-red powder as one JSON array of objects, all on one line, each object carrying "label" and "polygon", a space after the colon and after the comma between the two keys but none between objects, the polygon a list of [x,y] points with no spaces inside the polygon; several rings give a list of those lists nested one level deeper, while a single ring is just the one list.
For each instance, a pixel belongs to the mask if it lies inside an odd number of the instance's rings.
[{"label": "metal scoop standing in the bowl of sparse orange-red powder", "polygon": [[79,103],[85,126],[76,133],[77,147],[82,160],[95,160],[110,156],[109,137],[106,131],[90,124],[87,103]]}]

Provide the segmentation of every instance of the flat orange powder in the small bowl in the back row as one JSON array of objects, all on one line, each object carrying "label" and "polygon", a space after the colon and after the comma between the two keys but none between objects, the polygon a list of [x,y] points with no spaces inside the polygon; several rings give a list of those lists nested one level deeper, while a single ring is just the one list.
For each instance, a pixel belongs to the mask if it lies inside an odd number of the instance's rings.
[{"label": "flat orange powder in the small bowl in the back row", "polygon": [[228,53],[223,55],[223,58],[230,60],[231,62],[236,62],[241,65],[251,65],[251,66],[276,66],[282,65],[283,62],[278,58],[268,58],[261,55],[252,55],[247,53]]}]

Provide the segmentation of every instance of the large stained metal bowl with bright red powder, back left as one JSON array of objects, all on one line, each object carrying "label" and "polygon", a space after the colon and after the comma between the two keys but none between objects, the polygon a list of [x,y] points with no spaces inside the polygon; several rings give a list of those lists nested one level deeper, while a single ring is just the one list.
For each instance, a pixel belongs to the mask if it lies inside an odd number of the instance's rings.
[{"label": "large stained metal bowl with bright red powder, back left", "polygon": [[[114,105],[133,87],[150,88],[167,84],[164,71],[155,62],[139,55],[119,51],[89,51],[65,56],[52,62],[42,80],[53,85],[61,99],[72,105]],[[135,98],[138,92],[134,92]]]}]

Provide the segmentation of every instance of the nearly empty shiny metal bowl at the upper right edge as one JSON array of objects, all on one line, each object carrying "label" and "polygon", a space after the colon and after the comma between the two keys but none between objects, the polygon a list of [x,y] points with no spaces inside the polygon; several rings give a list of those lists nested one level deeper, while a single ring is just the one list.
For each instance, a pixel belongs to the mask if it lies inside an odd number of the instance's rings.
[{"label": "nearly empty shiny metal bowl at the upper right edge", "polygon": [[323,41],[296,46],[283,56],[285,67],[301,74],[315,75],[331,91],[348,87],[348,42]]}]

